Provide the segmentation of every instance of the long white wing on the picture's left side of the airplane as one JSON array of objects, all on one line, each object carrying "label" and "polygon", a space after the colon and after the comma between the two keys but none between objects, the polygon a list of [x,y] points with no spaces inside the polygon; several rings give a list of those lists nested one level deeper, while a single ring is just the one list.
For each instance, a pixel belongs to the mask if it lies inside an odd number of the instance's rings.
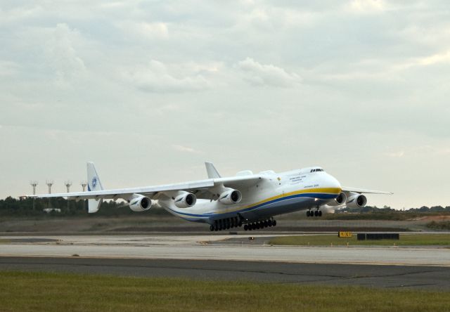
[{"label": "long white wing on the picture's left side of the airplane", "polygon": [[[197,193],[214,193],[214,186],[223,184],[227,188],[248,188],[255,186],[262,177],[260,176],[236,176],[232,178],[209,178],[207,180],[191,181],[185,183],[167,184],[161,186],[147,186],[143,188],[117,188],[113,190],[94,190],[78,193],[55,193],[44,195],[28,195],[27,197],[48,198],[48,197],[66,197],[68,200],[129,200],[133,194],[141,194],[152,198],[157,193],[169,193],[177,190],[184,190],[197,195]],[[201,198],[202,196],[200,196]]]}]

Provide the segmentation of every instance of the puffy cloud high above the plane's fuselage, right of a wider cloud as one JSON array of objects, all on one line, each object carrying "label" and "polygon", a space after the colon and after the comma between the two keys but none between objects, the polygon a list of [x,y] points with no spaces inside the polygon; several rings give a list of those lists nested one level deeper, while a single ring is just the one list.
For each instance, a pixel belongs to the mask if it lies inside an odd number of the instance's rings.
[{"label": "puffy cloud high above the plane's fuselage, right of a wider cloud", "polygon": [[246,58],[236,64],[243,72],[244,79],[257,86],[277,86],[288,88],[300,84],[302,79],[298,74],[288,73],[281,67],[262,65],[252,58]]}]

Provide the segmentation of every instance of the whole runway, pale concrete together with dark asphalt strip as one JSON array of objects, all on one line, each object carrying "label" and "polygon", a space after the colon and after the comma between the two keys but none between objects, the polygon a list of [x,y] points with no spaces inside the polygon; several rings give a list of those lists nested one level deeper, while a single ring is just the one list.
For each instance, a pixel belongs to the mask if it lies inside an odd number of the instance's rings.
[{"label": "whole runway, pale concrete together with dark asphalt strip", "polygon": [[450,290],[450,249],[268,241],[268,235],[10,236],[0,238],[0,270]]}]

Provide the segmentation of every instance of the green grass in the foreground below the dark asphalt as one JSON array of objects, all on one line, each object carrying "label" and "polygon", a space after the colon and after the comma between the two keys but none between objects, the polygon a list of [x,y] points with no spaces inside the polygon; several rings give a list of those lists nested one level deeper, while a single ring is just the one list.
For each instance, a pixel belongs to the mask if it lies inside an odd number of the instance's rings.
[{"label": "green grass in the foreground below the dark asphalt", "polygon": [[0,272],[1,311],[448,311],[448,292]]}]

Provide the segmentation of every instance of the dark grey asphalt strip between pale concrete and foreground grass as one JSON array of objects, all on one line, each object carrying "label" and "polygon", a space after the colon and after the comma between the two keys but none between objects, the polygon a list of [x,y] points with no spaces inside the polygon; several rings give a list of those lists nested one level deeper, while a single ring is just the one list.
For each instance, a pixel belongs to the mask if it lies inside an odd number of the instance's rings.
[{"label": "dark grey asphalt strip between pale concrete and foreground grass", "polygon": [[263,283],[351,285],[450,290],[450,268],[348,264],[286,264],[265,261],[0,257],[0,271],[95,273]]}]

